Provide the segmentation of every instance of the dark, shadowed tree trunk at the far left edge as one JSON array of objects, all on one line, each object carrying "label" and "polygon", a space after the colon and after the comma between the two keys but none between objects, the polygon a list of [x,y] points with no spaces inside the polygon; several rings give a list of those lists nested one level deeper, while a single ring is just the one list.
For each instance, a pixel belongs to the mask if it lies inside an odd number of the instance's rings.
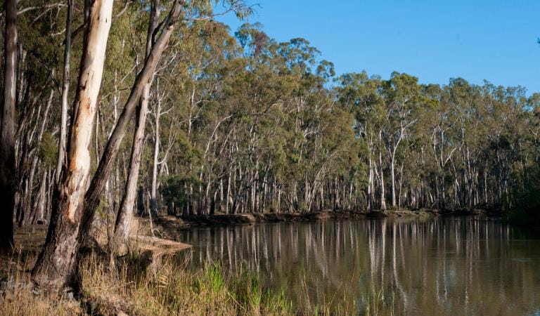
[{"label": "dark, shadowed tree trunk at the far left edge", "polygon": [[15,208],[15,98],[17,97],[17,1],[6,0],[4,103],[0,126],[0,252],[13,247]]}]

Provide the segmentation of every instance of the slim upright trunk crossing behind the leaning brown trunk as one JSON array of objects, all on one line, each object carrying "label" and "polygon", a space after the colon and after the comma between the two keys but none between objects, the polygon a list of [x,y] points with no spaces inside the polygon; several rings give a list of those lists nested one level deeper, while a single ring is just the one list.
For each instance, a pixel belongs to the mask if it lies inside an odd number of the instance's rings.
[{"label": "slim upright trunk crossing behind the leaning brown trunk", "polygon": [[[153,0],[151,8],[150,23],[148,23],[148,32],[146,35],[146,58],[150,55],[150,50],[153,46],[153,33],[160,18],[160,0]],[[141,154],[143,152],[144,129],[146,127],[146,114],[148,112],[148,98],[150,98],[150,86],[152,77],[143,87],[143,93],[139,108],[137,109],[136,130],[133,136],[133,145],[131,147],[131,159],[129,162],[129,173],[127,176],[124,195],[115,222],[115,249],[123,252],[125,249],[120,249],[117,246],[127,244],[129,233],[131,230],[131,218],[133,218],[133,206],[136,196],[137,180],[139,179],[139,169],[141,166]],[[156,126],[157,128],[157,126]]]}]

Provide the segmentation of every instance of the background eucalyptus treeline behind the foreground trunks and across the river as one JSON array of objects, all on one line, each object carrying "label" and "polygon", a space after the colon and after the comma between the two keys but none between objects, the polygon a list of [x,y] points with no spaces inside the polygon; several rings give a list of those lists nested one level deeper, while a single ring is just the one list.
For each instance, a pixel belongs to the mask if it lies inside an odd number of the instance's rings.
[{"label": "background eucalyptus treeline behind the foreground trunks and across the river", "polygon": [[[56,33],[65,27],[53,13],[46,15],[56,23],[21,21],[15,145],[21,225],[46,219],[51,205],[63,73],[63,37]],[[144,23],[146,12],[131,6],[112,25],[91,136],[94,165],[141,67]],[[149,93],[136,198],[141,213],[501,209],[515,204],[536,174],[536,93],[527,98],[521,87],[464,79],[418,84],[397,72],[388,80],[365,72],[336,77],[309,41],[278,43],[261,28],[245,24],[231,35],[209,20],[172,35]],[[101,197],[107,212],[120,207],[131,142],[120,148]]]}]

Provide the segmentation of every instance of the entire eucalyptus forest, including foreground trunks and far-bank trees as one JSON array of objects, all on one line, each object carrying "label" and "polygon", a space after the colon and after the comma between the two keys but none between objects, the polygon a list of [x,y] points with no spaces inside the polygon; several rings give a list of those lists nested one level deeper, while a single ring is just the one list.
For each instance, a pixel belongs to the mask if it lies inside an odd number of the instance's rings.
[{"label": "entire eucalyptus forest, including foreground trunks and far-bank trees", "polygon": [[[308,39],[216,20],[243,0],[6,0],[0,246],[48,227],[32,270],[134,218],[481,209],[538,220],[540,94],[336,74]],[[387,79],[384,79],[387,78]],[[105,224],[104,221],[106,222]]]}]

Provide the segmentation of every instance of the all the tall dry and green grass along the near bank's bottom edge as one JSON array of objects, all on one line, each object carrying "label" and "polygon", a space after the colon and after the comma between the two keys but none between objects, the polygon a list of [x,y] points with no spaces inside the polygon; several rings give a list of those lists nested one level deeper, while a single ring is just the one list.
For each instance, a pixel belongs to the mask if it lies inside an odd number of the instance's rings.
[{"label": "all the tall dry and green grass along the near bank's bottom edge", "polygon": [[[16,260],[16,259],[15,259]],[[146,258],[131,254],[117,269],[95,256],[80,266],[82,297],[52,299],[30,286],[28,272],[2,276],[8,286],[0,296],[2,315],[277,315],[293,307],[283,291],[263,289],[247,272],[232,275],[219,264],[198,271],[166,261],[152,271]]]}]

